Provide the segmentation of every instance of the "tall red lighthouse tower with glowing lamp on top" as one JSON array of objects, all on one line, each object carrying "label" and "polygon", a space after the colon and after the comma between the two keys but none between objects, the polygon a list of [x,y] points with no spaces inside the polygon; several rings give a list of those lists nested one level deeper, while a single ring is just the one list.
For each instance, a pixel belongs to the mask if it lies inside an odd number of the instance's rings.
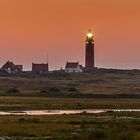
[{"label": "tall red lighthouse tower with glowing lamp on top", "polygon": [[94,40],[91,30],[86,36],[86,57],[85,57],[85,67],[94,68]]}]

